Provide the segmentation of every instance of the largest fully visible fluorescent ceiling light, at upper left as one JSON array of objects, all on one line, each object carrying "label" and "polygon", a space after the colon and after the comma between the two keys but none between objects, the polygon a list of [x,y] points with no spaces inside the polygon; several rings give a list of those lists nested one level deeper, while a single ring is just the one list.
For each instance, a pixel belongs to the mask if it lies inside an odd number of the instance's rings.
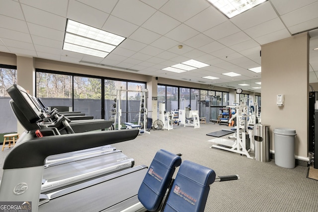
[{"label": "largest fully visible fluorescent ceiling light, at upper left", "polygon": [[68,19],[63,49],[105,58],[126,38]]}]

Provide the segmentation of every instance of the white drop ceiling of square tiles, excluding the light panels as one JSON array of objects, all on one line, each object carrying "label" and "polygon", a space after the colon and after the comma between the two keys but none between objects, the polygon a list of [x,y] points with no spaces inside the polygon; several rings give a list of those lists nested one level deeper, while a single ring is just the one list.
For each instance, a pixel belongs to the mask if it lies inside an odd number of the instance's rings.
[{"label": "white drop ceiling of square tiles, excluding the light panels", "polygon": [[[267,0],[229,19],[206,0],[1,0],[0,51],[260,92],[261,72],[248,70],[261,66],[260,46],[306,31],[318,82],[317,11],[318,0]],[[126,39],[105,58],[62,50],[67,19]],[[210,66],[162,70],[191,59]]]}]

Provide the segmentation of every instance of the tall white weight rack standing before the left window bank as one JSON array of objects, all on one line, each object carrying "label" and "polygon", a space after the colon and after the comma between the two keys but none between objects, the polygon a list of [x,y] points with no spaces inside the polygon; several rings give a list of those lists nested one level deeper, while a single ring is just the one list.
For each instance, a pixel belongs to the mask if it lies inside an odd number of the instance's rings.
[{"label": "tall white weight rack standing before the left window bank", "polygon": [[[122,112],[121,109],[121,96],[122,96],[122,92],[137,92],[140,95],[141,99],[140,99],[140,105],[139,105],[139,111],[133,111],[133,112]],[[143,89],[143,90],[124,90],[124,89],[117,89],[116,92],[116,99],[115,101],[115,105],[116,109],[112,110],[112,115],[114,115],[113,120],[114,120],[114,126],[116,126],[116,124],[118,124],[118,130],[122,130],[122,125],[121,125],[121,117],[122,117],[122,113],[138,113],[138,123],[137,124],[133,124],[133,123],[129,123],[126,122],[126,129],[132,129],[132,128],[137,128],[139,129],[140,133],[148,133],[150,134],[149,131],[145,131],[143,129],[147,128],[147,99],[148,99],[148,90],[147,89]],[[127,100],[128,101],[128,100]]]}]

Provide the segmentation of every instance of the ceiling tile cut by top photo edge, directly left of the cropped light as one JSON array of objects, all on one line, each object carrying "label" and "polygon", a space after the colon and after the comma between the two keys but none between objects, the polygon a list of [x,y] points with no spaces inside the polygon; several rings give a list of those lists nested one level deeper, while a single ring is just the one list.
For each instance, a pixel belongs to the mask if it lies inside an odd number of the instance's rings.
[{"label": "ceiling tile cut by top photo edge, directly left of the cropped light", "polygon": [[178,21],[184,22],[209,6],[210,4],[204,0],[187,0],[186,3],[184,3],[184,0],[169,0],[159,10]]}]

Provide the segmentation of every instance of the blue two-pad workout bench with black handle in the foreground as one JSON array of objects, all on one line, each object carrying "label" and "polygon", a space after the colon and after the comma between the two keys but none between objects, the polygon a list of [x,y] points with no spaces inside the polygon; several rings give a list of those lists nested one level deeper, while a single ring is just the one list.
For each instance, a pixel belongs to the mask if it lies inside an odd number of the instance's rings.
[{"label": "blue two-pad workout bench with black handle in the foreground", "polygon": [[[177,166],[180,168],[173,180]],[[212,183],[237,179],[238,175],[216,177],[212,169],[188,160],[181,163],[181,157],[160,149],[140,186],[138,199],[149,212],[203,212]]]}]

